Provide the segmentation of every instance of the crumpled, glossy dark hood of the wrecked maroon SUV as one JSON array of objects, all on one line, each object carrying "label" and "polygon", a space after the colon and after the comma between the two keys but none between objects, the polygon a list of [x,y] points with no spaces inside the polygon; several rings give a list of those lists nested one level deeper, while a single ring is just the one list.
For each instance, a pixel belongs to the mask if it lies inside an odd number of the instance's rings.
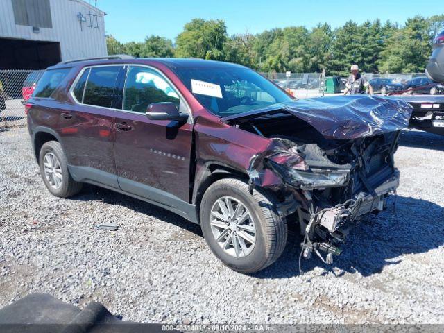
[{"label": "crumpled, glossy dark hood of the wrecked maroon SUV", "polygon": [[223,117],[224,122],[287,112],[306,121],[327,139],[357,139],[402,130],[413,108],[399,99],[379,96],[329,96],[300,99]]}]

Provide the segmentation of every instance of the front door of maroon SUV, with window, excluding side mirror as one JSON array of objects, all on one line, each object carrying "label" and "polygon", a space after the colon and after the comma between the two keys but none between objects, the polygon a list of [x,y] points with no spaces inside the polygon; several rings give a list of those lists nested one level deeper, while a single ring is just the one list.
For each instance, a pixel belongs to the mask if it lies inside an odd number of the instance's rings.
[{"label": "front door of maroon SUV, with window, excluding side mirror", "polygon": [[178,90],[157,69],[128,66],[122,110],[116,112],[114,156],[119,185],[165,205],[189,200],[192,130],[187,123],[150,120],[151,103],[172,102],[180,112],[189,108]]}]

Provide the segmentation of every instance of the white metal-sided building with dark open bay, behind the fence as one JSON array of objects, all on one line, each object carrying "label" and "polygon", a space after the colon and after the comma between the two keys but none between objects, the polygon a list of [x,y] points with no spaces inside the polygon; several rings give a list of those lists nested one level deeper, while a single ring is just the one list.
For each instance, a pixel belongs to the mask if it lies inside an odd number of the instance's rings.
[{"label": "white metal-sided building with dark open bay, behind the fence", "polygon": [[83,0],[0,0],[0,69],[107,56],[105,15]]}]

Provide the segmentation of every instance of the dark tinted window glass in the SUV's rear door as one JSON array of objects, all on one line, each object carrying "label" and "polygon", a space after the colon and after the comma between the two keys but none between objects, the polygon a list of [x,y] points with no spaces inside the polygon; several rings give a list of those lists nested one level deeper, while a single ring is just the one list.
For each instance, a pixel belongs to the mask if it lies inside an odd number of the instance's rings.
[{"label": "dark tinted window glass in the SUV's rear door", "polygon": [[120,69],[120,66],[92,68],[86,83],[83,103],[110,108],[114,86]]}]

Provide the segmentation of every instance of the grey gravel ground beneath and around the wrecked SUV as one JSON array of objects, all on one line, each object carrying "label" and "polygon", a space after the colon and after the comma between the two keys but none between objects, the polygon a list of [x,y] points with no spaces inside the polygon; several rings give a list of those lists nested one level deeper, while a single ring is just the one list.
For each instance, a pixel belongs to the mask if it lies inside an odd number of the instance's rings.
[{"label": "grey gravel ground beneath and around the wrecked SUV", "polygon": [[[99,187],[49,194],[26,128],[0,133],[0,307],[31,292],[99,300],[156,323],[444,323],[444,137],[402,133],[394,214],[361,223],[332,269],[299,275],[298,237],[255,276],[223,266],[197,225]],[[97,230],[101,221],[117,232]]]}]

